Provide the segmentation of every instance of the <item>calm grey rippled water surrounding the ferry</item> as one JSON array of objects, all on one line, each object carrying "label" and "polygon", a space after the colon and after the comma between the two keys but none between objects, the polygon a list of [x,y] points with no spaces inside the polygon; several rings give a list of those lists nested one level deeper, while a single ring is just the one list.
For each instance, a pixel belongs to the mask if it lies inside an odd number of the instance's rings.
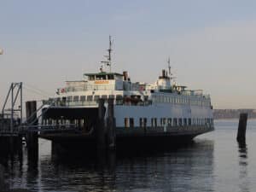
[{"label": "calm grey rippled water surrounding the ferry", "polygon": [[6,172],[12,188],[32,191],[256,191],[256,120],[248,121],[247,148],[236,143],[237,125],[218,120],[216,131],[189,146],[105,161],[52,155],[40,140],[38,164],[24,148],[23,160],[9,160]]}]

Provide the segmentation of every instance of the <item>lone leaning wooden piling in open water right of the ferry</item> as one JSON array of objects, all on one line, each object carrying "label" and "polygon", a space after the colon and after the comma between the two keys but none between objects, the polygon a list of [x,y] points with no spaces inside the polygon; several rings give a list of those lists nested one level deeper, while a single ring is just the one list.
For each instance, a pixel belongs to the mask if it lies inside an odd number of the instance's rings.
[{"label": "lone leaning wooden piling in open water right of the ferry", "polygon": [[238,143],[246,142],[246,131],[247,131],[247,113],[240,113],[239,125],[237,130],[236,141]]}]

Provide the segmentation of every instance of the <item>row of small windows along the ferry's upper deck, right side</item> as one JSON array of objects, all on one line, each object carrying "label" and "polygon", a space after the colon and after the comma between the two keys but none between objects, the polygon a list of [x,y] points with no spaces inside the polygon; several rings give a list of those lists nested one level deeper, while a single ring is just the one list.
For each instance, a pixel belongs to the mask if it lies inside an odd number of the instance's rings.
[{"label": "row of small windows along the ferry's upper deck, right side", "polygon": [[191,104],[197,106],[210,106],[211,103],[206,100],[191,99],[185,96],[153,96],[154,102],[169,102],[179,104]]}]

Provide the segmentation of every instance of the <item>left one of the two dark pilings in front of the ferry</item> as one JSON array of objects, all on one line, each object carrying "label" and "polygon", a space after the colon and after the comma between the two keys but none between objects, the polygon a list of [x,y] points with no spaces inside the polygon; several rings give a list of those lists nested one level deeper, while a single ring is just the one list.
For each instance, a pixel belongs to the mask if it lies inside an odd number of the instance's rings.
[{"label": "left one of the two dark pilings in front of the ferry", "polygon": [[105,107],[104,107],[104,100],[99,99],[99,108],[98,108],[98,120],[96,123],[96,148],[97,151],[101,153],[106,148],[106,141],[105,141]]}]

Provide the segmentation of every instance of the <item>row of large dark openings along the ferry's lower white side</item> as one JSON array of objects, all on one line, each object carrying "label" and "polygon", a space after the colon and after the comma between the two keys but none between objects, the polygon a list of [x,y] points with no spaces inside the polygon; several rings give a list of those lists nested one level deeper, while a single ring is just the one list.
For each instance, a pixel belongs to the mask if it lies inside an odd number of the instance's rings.
[{"label": "row of large dark openings along the ferry's lower white side", "polygon": [[212,125],[213,119],[191,119],[191,118],[140,118],[138,125],[135,125],[134,118],[125,118],[125,127],[157,127],[157,126],[187,126],[187,125]]}]

